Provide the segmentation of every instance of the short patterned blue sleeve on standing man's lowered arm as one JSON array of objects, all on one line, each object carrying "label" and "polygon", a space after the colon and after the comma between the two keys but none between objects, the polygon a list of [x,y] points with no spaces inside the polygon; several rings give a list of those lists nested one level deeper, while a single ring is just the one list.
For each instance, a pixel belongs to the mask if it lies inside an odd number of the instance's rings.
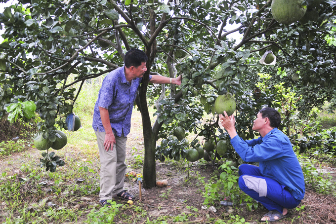
[{"label": "short patterned blue sleeve on standing man's lowered arm", "polygon": [[98,107],[108,109],[113,102],[116,88],[116,79],[109,76],[104,78],[100,88]]}]

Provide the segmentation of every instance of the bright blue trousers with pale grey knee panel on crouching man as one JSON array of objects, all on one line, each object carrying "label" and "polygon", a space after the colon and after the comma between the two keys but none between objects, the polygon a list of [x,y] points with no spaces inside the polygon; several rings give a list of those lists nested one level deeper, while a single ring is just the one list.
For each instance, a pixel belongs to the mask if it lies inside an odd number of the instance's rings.
[{"label": "bright blue trousers with pale grey knee panel on crouching man", "polygon": [[292,209],[301,202],[292,196],[286,186],[264,177],[257,166],[240,165],[239,176],[239,187],[269,211],[277,210],[283,213],[283,208]]}]

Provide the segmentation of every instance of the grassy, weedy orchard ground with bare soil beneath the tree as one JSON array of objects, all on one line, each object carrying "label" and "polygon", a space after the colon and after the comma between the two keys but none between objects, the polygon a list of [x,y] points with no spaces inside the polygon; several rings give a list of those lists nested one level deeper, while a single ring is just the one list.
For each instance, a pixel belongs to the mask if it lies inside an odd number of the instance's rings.
[{"label": "grassy, weedy orchard ground with bare soil beneath the tree", "polygon": [[[129,145],[141,146],[141,138],[129,139]],[[128,172],[141,172],[143,150],[137,148],[127,147]],[[267,212],[242,194],[235,182],[237,171],[233,167],[223,165],[218,169],[202,160],[197,164],[172,160],[158,162],[157,180],[167,179],[168,187],[142,189],[142,200],[134,201],[133,205],[116,200],[111,208],[102,208],[98,203],[99,157],[94,144],[87,150],[66,147],[57,153],[66,165],[58,167],[55,173],[45,172],[37,166],[40,152],[33,148],[1,159],[0,222],[256,224],[257,219]],[[281,223],[319,223],[319,219],[323,223],[333,223],[330,214],[335,214],[335,206],[331,206],[335,201],[335,176],[332,173],[335,168],[323,163],[317,165],[318,160],[300,159],[308,186],[307,201],[312,195],[316,201],[308,203],[304,199],[291,211],[290,218]],[[131,177],[126,178],[126,188],[139,197],[138,184]],[[322,211],[328,211],[329,215],[320,217],[316,212],[310,213],[317,204],[321,206],[318,200],[323,198],[327,199],[323,201],[326,208]],[[219,201],[224,199],[236,200],[236,205],[220,206]]]}]

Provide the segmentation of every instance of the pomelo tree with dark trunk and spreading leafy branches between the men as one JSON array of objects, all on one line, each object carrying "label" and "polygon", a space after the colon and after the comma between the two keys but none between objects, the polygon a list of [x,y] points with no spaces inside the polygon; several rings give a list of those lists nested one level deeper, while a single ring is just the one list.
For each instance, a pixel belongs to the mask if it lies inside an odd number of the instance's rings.
[{"label": "pomelo tree with dark trunk and spreading leafy branches between the men", "polygon": [[[314,0],[300,3],[313,7]],[[38,124],[43,137],[55,140],[56,127],[64,128],[62,117],[72,112],[85,80],[123,66],[128,49],[143,49],[149,58],[148,70],[136,105],[143,122],[144,183],[154,187],[156,156],[176,160],[186,156],[184,140],[166,140],[175,126],[215,142],[227,138],[224,132],[214,135],[216,116],[205,125],[200,122],[204,111],[213,111],[218,95],[235,95],[238,134],[254,137],[247,130],[255,113],[263,105],[281,107],[274,92],[255,89],[257,73],[269,73],[274,81],[282,81],[279,69],[299,74],[295,83],[288,78],[284,82],[306,93],[307,110],[330,99],[336,50],[325,37],[335,35],[330,30],[335,26],[336,2],[321,3],[313,7],[319,14],[316,21],[285,25],[273,19],[271,0],[19,0],[0,13],[4,32],[0,115],[5,115],[10,103],[34,102],[43,120]],[[229,38],[234,33],[241,34],[241,39]],[[277,57],[276,65],[259,64],[259,55],[270,49]],[[182,85],[169,89],[148,85],[149,74],[182,75]],[[75,75],[73,82],[68,81],[69,75]],[[315,90],[319,96],[310,104],[307,96]],[[151,104],[156,101],[154,124],[147,99]],[[164,140],[156,149],[159,138]],[[196,144],[191,143],[193,148]]]}]

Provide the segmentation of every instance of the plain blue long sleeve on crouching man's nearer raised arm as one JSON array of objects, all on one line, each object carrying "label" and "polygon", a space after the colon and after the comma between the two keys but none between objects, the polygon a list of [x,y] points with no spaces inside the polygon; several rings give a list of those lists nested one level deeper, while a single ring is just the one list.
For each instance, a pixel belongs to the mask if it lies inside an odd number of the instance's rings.
[{"label": "plain blue long sleeve on crouching man's nearer raised arm", "polygon": [[269,136],[266,141],[262,141],[260,137],[244,141],[235,136],[231,139],[231,144],[246,162],[262,162],[283,156],[281,140],[275,135]]}]

